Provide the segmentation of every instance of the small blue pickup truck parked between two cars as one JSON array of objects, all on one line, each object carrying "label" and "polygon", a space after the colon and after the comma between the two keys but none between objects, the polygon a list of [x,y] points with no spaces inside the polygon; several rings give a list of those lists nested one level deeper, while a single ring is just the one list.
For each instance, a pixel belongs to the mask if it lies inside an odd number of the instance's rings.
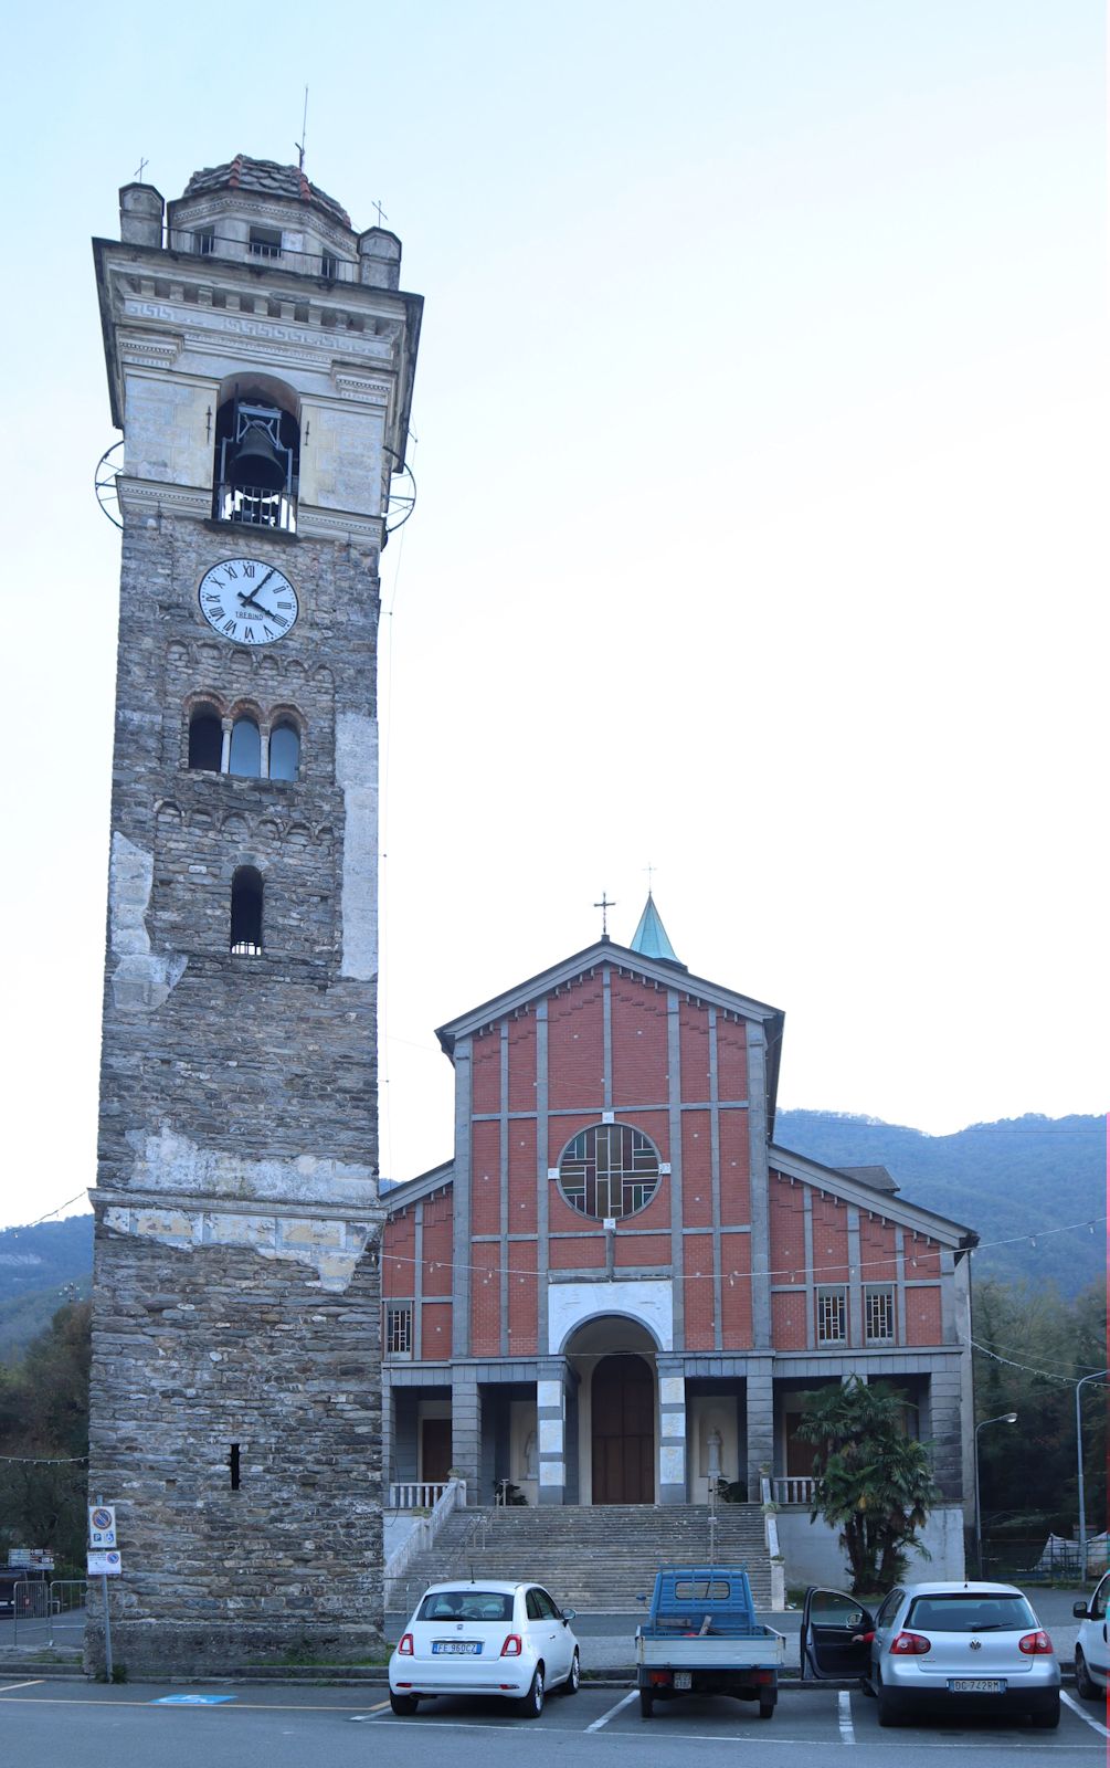
[{"label": "small blue pickup truck parked between two cars", "polygon": [[755,1618],[748,1566],[665,1565],[636,1628],[640,1713],[686,1694],[730,1694],[771,1718],[785,1657],[785,1637]]}]

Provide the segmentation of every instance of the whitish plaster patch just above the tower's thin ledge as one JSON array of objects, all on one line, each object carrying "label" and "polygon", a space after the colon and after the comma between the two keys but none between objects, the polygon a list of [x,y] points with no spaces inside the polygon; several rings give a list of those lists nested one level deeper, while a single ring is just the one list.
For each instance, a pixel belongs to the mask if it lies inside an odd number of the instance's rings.
[{"label": "whitish plaster patch just above the tower's thin ledge", "polygon": [[350,1206],[362,1215],[378,1202],[373,1167],[318,1155],[244,1160],[223,1149],[201,1147],[163,1124],[157,1135],[138,1132],[131,1186],[161,1195],[221,1197],[242,1202]]}]

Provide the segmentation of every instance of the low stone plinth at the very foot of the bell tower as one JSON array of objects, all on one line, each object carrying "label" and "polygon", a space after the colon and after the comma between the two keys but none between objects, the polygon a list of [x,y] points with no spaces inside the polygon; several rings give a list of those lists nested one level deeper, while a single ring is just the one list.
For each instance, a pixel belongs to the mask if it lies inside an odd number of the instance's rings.
[{"label": "low stone plinth at the very foot of the bell tower", "polygon": [[[92,1598],[95,1600],[95,1597]],[[120,1681],[230,1676],[263,1665],[364,1664],[382,1655],[382,1627],[339,1621],[111,1621],[111,1664]],[[104,1623],[85,1628],[85,1674],[104,1678]]]}]

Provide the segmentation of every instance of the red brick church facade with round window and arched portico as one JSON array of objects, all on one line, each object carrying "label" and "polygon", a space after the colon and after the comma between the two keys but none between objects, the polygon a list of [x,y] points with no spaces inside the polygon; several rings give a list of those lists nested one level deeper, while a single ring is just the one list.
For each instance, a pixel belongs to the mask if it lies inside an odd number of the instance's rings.
[{"label": "red brick church facade with round window and arched portico", "polygon": [[677,962],[649,898],[438,1033],[454,1158],[385,1197],[391,1480],[530,1503],[785,1501],[801,1395],[889,1377],[970,1490],[974,1234],[774,1140],[783,1015]]}]

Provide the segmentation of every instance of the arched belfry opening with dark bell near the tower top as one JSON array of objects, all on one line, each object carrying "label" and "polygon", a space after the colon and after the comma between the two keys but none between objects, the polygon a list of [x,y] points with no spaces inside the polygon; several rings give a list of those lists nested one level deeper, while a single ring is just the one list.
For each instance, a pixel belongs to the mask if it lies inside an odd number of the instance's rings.
[{"label": "arched belfry opening with dark bell near the tower top", "polygon": [[269,375],[224,382],[216,410],[216,520],[295,530],[299,472],[299,401],[292,389]]}]

